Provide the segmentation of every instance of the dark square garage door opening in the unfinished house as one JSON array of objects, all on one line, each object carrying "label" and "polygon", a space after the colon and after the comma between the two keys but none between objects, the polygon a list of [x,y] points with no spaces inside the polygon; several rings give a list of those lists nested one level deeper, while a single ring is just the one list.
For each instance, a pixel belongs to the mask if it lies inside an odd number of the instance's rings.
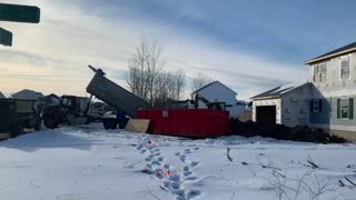
[{"label": "dark square garage door opening in the unfinished house", "polygon": [[276,124],[276,106],[256,107],[256,122]]}]

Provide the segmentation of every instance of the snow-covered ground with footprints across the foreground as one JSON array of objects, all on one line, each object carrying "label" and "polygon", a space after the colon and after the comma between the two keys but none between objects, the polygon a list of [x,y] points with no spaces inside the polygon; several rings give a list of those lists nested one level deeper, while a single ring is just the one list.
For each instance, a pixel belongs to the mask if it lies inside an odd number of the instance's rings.
[{"label": "snow-covered ground with footprints across the foreground", "polygon": [[7,200],[356,199],[355,174],[353,143],[186,140],[101,124],[0,142]]}]

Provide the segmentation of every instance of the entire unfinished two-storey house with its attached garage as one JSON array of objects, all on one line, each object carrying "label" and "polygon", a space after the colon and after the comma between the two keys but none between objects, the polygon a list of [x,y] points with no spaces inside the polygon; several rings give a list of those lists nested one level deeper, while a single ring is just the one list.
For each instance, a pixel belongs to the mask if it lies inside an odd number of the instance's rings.
[{"label": "entire unfinished two-storey house with its attached garage", "polygon": [[278,87],[253,97],[253,119],[308,124],[356,140],[356,42],[304,62],[308,83]]}]

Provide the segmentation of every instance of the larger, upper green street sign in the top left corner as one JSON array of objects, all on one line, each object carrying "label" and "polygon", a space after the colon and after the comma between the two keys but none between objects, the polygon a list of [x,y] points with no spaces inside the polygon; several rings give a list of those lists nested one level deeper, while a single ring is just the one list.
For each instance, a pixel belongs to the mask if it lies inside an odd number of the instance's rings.
[{"label": "larger, upper green street sign in the top left corner", "polygon": [[38,23],[40,22],[40,9],[31,6],[0,3],[0,20]]}]

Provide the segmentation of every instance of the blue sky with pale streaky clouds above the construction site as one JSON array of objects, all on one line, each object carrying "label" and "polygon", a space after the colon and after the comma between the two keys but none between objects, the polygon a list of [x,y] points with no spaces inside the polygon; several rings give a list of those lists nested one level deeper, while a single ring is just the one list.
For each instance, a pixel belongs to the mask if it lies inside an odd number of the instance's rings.
[{"label": "blue sky with pale streaky clouds above the construction site", "polygon": [[[10,2],[8,0],[8,2]],[[356,40],[356,1],[52,0],[39,24],[0,22],[14,33],[0,47],[0,90],[85,96],[103,68],[126,84],[127,61],[142,34],[162,47],[167,70],[207,73],[247,100],[307,79],[303,61]],[[188,88],[189,89],[189,88]]]}]

